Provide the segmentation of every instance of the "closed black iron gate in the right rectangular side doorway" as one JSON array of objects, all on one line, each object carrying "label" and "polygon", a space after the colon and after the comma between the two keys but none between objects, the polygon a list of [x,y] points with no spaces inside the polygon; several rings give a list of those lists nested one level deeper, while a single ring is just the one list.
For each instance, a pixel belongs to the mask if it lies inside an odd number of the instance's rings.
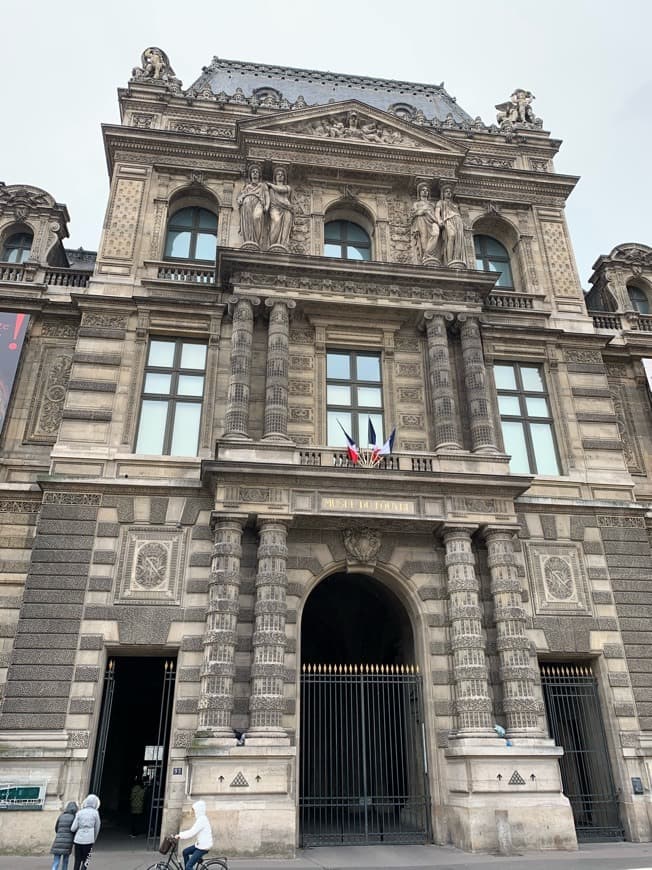
[{"label": "closed black iron gate in the right rectangular side doorway", "polygon": [[564,794],[578,840],[622,840],[618,794],[611,775],[598,685],[588,664],[541,665],[550,735],[563,747]]}]

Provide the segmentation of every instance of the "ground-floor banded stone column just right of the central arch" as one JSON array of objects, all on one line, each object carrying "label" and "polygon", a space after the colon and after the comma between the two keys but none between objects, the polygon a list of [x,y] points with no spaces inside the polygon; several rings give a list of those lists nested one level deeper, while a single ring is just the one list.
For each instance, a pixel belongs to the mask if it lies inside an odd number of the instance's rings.
[{"label": "ground-floor banded stone column just right of the central arch", "polygon": [[480,585],[468,528],[444,530],[458,736],[490,736],[492,704]]}]

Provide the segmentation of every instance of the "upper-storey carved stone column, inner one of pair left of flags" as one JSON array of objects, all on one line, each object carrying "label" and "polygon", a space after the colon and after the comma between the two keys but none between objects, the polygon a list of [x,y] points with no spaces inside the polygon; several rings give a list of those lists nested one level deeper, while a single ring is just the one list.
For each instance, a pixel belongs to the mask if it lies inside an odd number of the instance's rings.
[{"label": "upper-storey carved stone column, inner one of pair left of flags", "polygon": [[270,314],[263,438],[287,441],[290,311],[296,307],[296,302],[293,299],[266,299],[265,305]]}]

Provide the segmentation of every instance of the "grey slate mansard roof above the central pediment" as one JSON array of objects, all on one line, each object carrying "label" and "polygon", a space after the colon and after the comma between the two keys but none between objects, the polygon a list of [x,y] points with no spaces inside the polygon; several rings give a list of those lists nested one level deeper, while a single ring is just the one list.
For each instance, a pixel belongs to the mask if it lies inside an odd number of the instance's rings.
[{"label": "grey slate mansard roof above the central pediment", "polygon": [[236,88],[240,88],[247,98],[261,88],[273,88],[290,104],[299,97],[303,97],[309,106],[359,100],[386,112],[392,111],[397,104],[407,104],[415,112],[422,112],[428,120],[444,121],[449,115],[457,123],[472,120],[446,92],[443,82],[441,85],[424,85],[214,57],[191,90],[200,92],[207,85],[214,94],[229,96]]}]

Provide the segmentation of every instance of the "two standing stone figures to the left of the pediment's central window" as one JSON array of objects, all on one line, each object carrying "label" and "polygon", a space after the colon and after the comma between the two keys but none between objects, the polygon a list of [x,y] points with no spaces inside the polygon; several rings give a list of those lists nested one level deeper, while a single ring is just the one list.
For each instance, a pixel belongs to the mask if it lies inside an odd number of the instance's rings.
[{"label": "two standing stone figures to the left of the pediment's central window", "polygon": [[237,202],[243,248],[288,250],[294,203],[283,167],[274,170],[273,181],[263,181],[260,168],[251,166]]}]

